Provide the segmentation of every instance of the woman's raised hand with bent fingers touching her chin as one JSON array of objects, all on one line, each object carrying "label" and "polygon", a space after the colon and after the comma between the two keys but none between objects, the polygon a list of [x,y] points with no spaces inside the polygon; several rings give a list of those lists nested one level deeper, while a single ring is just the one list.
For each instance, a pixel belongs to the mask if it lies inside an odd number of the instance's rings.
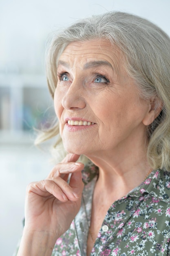
[{"label": "woman's raised hand with bent fingers touching her chin", "polygon": [[[26,192],[25,229],[47,232],[54,239],[71,225],[81,204],[83,190],[82,163],[79,155],[68,154],[46,180],[29,184]],[[68,175],[71,173],[69,184]]]}]

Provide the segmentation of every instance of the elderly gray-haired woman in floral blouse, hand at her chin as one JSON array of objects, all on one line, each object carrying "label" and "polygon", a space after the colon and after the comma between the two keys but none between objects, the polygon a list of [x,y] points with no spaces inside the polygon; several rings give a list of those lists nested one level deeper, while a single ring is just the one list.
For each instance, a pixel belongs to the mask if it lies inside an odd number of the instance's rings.
[{"label": "elderly gray-haired woman in floral blouse, hand at her chin", "polygon": [[68,155],[28,186],[17,255],[170,255],[170,38],[110,12],[55,35],[46,67],[43,136]]}]

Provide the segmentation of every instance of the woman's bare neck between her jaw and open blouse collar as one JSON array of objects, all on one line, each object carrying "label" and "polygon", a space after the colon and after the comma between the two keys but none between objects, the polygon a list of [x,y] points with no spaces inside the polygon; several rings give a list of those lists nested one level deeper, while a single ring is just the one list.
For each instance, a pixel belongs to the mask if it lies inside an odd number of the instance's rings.
[{"label": "woman's bare neck between her jaw and open blouse collar", "polygon": [[[140,150],[139,150],[140,148]],[[120,191],[130,191],[143,182],[150,166],[146,157],[145,147],[133,147],[130,150],[114,150],[88,156],[99,167],[97,183],[100,187]]]}]

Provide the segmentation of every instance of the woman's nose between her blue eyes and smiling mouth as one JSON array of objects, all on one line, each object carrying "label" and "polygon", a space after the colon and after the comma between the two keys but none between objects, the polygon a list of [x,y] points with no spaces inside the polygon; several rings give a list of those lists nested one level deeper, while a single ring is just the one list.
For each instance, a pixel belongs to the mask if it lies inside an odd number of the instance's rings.
[{"label": "woman's nose between her blue eyes and smiling mouth", "polygon": [[85,90],[81,84],[73,82],[62,99],[62,106],[67,110],[83,109],[86,106]]}]

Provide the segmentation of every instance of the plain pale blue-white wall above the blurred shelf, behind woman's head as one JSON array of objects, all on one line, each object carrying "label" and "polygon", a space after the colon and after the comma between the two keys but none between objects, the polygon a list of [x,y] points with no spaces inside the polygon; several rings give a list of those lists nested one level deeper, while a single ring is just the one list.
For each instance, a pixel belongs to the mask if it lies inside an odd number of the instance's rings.
[{"label": "plain pale blue-white wall above the blurred shelf, behind woman's head", "polygon": [[0,70],[44,72],[42,53],[51,31],[111,10],[146,17],[170,35],[169,0],[1,0]]}]

